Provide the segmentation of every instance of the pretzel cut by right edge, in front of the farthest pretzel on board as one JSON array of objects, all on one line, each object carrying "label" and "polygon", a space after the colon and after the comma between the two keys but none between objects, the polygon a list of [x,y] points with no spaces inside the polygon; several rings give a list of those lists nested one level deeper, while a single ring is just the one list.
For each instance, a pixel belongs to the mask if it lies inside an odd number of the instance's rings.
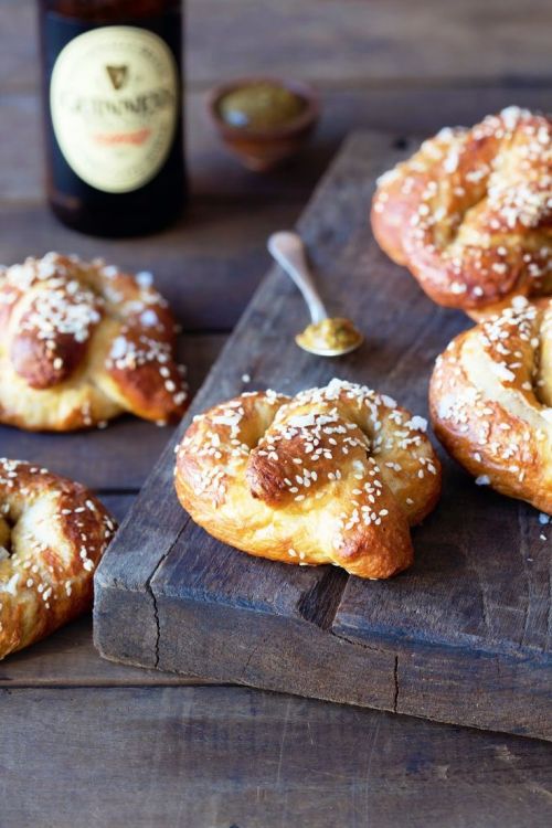
[{"label": "pretzel cut by right edge, in front of the farthest pretzel on board", "polygon": [[437,437],[478,482],[552,513],[552,299],[456,337],[429,388]]}]

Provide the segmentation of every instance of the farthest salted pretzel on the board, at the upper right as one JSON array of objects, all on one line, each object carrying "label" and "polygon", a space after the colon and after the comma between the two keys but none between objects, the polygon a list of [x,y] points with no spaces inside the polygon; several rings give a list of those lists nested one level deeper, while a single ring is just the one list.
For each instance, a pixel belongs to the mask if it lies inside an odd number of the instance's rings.
[{"label": "farthest salted pretzel on the board, at the upper right", "polygon": [[439,305],[479,318],[552,294],[552,121],[509,107],[382,176],[372,229]]}]

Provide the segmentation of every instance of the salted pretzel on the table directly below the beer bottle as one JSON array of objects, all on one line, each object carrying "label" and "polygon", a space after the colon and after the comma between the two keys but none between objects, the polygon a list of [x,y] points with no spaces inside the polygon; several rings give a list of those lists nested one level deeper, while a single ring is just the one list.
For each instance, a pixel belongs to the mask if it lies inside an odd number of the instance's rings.
[{"label": "salted pretzel on the table directly below the beer bottle", "polygon": [[71,431],[125,411],[178,420],[187,393],[174,341],[150,274],[55,253],[0,269],[0,422]]}]

